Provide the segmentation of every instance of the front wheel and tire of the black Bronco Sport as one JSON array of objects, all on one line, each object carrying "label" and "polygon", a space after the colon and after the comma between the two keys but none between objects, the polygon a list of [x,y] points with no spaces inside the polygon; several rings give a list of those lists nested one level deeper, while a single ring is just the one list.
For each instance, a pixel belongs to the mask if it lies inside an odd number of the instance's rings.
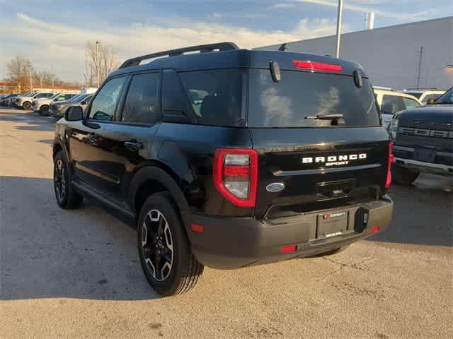
[{"label": "front wheel and tire of the black Bronco Sport", "polygon": [[58,206],[64,210],[79,208],[84,197],[71,185],[71,174],[64,152],[60,150],[54,160],[54,191]]}]

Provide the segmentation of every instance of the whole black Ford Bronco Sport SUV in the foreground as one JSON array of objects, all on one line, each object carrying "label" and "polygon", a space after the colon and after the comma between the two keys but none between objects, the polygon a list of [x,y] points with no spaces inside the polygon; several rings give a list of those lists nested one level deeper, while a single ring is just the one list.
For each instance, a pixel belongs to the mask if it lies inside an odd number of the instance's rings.
[{"label": "whole black Ford Bronco Sport SUV in the foreground", "polygon": [[224,42],[127,60],[85,112],[69,107],[55,195],[136,225],[147,280],[173,295],[204,265],[333,254],[384,230],[390,151],[359,64]]}]

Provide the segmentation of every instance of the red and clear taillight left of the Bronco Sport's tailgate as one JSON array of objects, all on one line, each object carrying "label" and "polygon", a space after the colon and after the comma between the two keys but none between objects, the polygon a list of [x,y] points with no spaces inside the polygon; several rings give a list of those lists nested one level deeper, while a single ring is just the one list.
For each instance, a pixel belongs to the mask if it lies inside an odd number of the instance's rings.
[{"label": "red and clear taillight left of the Bronco Sport's tailgate", "polygon": [[214,186],[231,203],[253,207],[258,182],[256,150],[217,148],[214,157]]}]

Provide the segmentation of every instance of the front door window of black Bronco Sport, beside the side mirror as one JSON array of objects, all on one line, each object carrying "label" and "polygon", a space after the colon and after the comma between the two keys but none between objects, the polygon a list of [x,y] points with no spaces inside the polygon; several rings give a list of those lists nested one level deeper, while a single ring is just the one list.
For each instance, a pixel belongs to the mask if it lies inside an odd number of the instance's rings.
[{"label": "front door window of black Bronco Sport, beside the side mirror", "polygon": [[103,88],[101,88],[91,104],[90,114],[88,115],[89,119],[113,120],[125,80],[125,77],[113,78],[103,85]]}]

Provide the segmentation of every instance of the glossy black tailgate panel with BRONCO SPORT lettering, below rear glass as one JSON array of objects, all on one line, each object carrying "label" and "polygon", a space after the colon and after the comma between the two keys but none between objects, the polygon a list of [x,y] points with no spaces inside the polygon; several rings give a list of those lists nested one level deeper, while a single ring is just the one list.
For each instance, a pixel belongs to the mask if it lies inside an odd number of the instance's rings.
[{"label": "glossy black tailgate panel with BRONCO SPORT lettering, below rear glass", "polygon": [[382,127],[250,132],[258,151],[258,218],[334,208],[384,194],[389,136]]}]

